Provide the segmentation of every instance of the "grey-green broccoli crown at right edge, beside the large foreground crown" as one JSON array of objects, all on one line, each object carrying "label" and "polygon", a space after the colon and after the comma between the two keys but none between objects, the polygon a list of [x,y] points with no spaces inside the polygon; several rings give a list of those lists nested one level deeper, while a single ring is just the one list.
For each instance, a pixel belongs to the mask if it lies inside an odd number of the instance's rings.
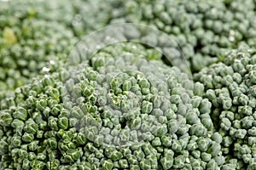
[{"label": "grey-green broccoli crown at right edge, beside the large foreground crown", "polygon": [[[224,167],[255,169],[256,55],[253,49],[236,49],[199,73],[206,99],[212,103],[212,121],[221,134]],[[223,168],[224,168],[223,167]]]}]

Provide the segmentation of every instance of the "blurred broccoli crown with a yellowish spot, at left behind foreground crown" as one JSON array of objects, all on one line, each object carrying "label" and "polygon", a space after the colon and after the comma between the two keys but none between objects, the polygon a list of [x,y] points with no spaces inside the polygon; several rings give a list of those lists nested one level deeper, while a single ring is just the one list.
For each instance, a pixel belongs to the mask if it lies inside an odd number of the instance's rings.
[{"label": "blurred broccoli crown with a yellowish spot, at left behind foreground crown", "polygon": [[72,31],[45,20],[4,26],[2,40],[1,91],[20,87],[40,71],[55,71],[58,60],[66,59],[77,42]]}]

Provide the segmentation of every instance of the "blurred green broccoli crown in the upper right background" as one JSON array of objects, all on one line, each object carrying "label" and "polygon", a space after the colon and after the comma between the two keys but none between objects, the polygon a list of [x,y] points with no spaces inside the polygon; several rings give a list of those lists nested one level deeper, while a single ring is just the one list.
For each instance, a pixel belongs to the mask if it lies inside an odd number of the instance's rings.
[{"label": "blurred green broccoli crown in the upper right background", "polygon": [[111,23],[135,22],[157,27],[176,40],[191,60],[193,71],[216,61],[240,42],[254,47],[254,2],[123,1],[113,9]]}]

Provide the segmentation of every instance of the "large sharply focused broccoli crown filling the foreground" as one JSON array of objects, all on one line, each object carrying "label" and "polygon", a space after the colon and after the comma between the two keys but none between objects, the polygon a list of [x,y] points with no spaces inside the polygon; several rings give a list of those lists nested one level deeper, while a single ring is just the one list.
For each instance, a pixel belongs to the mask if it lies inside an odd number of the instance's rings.
[{"label": "large sharply focused broccoli crown filling the foreground", "polygon": [[78,70],[35,79],[2,101],[1,166],[219,169],[221,135],[203,85],[128,44],[102,48]]}]

